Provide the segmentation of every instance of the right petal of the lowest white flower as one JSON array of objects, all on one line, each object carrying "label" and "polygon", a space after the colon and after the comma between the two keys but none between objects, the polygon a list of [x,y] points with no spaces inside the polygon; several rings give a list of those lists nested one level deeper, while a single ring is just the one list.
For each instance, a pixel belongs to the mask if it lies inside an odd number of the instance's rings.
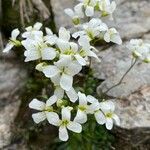
[{"label": "right petal of the lowest white flower", "polygon": [[82,126],[79,123],[73,122],[73,121],[69,122],[69,124],[67,125],[67,128],[76,133],[81,133],[82,131]]}]

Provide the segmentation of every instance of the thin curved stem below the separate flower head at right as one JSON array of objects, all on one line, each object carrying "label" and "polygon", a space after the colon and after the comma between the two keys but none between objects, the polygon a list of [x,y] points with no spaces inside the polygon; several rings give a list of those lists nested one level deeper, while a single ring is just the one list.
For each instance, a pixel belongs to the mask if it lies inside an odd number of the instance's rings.
[{"label": "thin curved stem below the separate flower head at right", "polygon": [[128,68],[128,70],[125,72],[125,74],[122,76],[122,78],[120,79],[120,81],[119,81],[117,84],[115,84],[115,85],[113,85],[112,87],[110,87],[108,90],[106,90],[106,91],[104,92],[104,94],[107,94],[110,90],[112,90],[113,88],[119,86],[119,85],[122,83],[122,81],[124,80],[124,78],[126,77],[126,75],[127,75],[127,74],[130,72],[130,70],[134,67],[134,65],[136,64],[136,62],[137,62],[137,59],[132,60],[131,66]]}]

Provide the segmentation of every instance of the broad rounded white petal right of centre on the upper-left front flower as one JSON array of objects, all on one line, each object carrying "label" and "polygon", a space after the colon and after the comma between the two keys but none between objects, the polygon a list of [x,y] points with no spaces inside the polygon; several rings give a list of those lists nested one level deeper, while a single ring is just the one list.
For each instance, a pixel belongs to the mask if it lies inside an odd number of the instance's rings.
[{"label": "broad rounded white petal right of centre on the upper-left front flower", "polygon": [[56,57],[56,50],[52,47],[47,47],[42,50],[42,60],[53,60]]}]

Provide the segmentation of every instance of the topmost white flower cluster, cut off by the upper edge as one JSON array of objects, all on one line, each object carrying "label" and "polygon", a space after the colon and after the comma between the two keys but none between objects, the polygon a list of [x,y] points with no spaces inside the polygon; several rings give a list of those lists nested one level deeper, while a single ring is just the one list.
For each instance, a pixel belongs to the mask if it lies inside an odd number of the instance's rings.
[{"label": "topmost white flower cluster, cut off by the upper edge", "polygon": [[109,17],[112,19],[112,14],[116,9],[115,1],[110,0],[79,0],[79,4],[74,7],[74,10],[67,8],[65,13],[72,18],[75,25],[81,23],[81,19],[85,17]]}]

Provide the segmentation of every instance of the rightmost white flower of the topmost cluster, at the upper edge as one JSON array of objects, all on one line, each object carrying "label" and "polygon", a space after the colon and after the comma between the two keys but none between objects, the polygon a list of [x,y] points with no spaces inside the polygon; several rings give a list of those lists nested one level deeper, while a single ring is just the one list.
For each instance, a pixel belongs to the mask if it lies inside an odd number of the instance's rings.
[{"label": "rightmost white flower of the topmost cluster, at the upper edge", "polygon": [[110,0],[99,0],[99,9],[102,12],[102,17],[109,15],[112,19],[112,14],[116,9],[116,3],[114,1],[110,2]]}]

